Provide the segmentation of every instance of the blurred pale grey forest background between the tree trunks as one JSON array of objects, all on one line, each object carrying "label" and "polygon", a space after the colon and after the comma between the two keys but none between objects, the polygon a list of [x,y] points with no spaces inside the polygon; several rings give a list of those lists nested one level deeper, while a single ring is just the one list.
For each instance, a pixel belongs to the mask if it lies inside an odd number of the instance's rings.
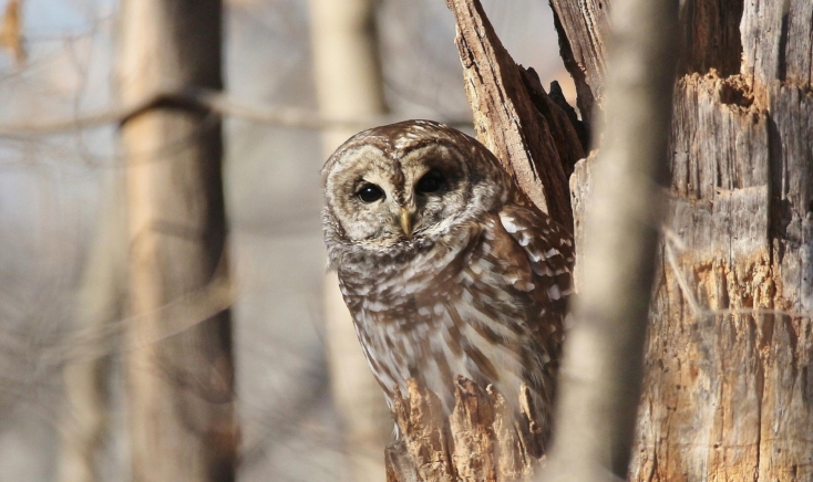
[{"label": "blurred pale grey forest background between the tree trunks", "polygon": [[[121,106],[122,6],[14,1],[19,24],[11,25],[11,1],[0,0],[7,12],[0,35],[0,482],[70,480],[61,464],[75,441],[73,426],[88,413],[66,391],[78,388],[71,366],[88,360],[104,367],[101,409],[109,413],[93,463],[100,480],[128,481],[122,355],[107,339],[117,332],[86,319],[100,303],[99,281],[88,282],[99,270],[93,254],[114,250],[125,229],[111,206],[124,196],[126,155],[115,119],[71,125]],[[483,4],[517,63],[533,66],[546,87],[558,80],[575,104],[547,2]],[[226,0],[224,9],[227,98],[257,112],[317,113],[309,2]],[[387,112],[393,119],[471,122],[443,0],[379,0],[374,9]],[[353,480],[326,354],[319,170],[331,147],[322,147],[318,129],[234,111],[224,116],[224,181],[238,479]],[[373,465],[383,462],[381,448],[367,457]]]}]

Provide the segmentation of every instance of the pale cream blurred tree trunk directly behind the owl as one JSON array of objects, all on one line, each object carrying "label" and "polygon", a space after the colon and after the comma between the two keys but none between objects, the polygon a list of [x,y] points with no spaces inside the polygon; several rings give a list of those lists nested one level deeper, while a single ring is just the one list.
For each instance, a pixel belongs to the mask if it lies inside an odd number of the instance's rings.
[{"label": "pale cream blurred tree trunk directly behind the owl", "polygon": [[[329,118],[364,118],[384,113],[372,0],[310,0],[313,71],[319,109]],[[372,127],[372,126],[370,126]],[[356,134],[322,133],[325,158]],[[356,481],[383,480],[381,447],[392,437],[392,418],[370,373],[335,273],[325,283],[326,342],[331,390],[347,437]]]}]

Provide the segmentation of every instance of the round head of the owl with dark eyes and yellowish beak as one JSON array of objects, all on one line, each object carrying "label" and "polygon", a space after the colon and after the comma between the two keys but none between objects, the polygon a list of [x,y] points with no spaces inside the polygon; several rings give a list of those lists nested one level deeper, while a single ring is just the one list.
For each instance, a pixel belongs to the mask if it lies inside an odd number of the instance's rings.
[{"label": "round head of the owl with dark eyes and yellowish beak", "polygon": [[322,181],[328,248],[370,251],[435,240],[505,203],[512,186],[485,146],[430,120],[354,135],[328,159]]}]

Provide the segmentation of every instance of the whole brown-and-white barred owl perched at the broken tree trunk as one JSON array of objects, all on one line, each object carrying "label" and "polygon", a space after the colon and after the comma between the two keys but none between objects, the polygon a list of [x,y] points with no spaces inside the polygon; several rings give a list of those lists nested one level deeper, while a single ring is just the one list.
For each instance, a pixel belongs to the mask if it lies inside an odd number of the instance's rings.
[{"label": "whole brown-and-white barred owl perched at the broken tree trunk", "polygon": [[477,140],[429,120],[357,134],[322,169],[329,266],[392,406],[414,378],[444,408],[455,377],[523,385],[549,429],[572,292],[570,234]]}]

